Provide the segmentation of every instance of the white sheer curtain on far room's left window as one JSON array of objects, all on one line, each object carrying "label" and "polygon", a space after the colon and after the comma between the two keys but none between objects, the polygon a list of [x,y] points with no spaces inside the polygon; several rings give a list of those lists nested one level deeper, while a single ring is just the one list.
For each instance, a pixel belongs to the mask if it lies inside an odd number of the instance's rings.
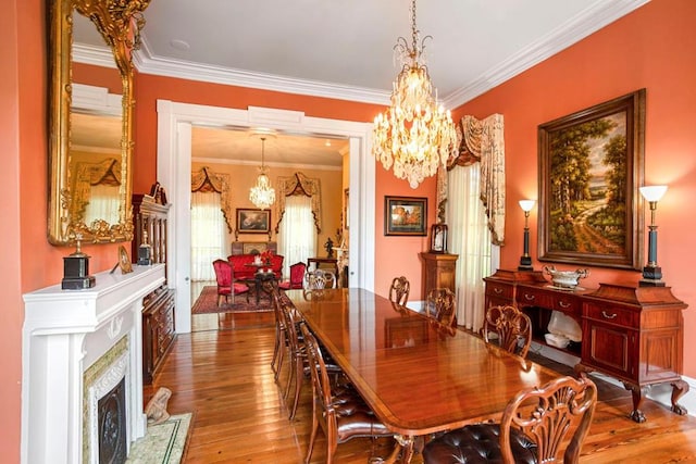
[{"label": "white sheer curtain on far room's left window", "polygon": [[191,193],[191,280],[215,280],[213,261],[225,259],[225,221],[220,193]]}]

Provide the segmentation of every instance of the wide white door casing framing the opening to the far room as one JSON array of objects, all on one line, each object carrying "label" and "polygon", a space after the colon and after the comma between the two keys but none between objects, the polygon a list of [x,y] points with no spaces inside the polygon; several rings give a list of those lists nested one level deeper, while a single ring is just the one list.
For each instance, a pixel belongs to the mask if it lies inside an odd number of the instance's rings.
[{"label": "wide white door casing framing the opening to the far room", "polygon": [[[371,152],[372,123],[307,117],[302,112],[250,106],[235,110],[158,100],[158,180],[170,191],[169,285],[176,291],[176,331],[191,330],[190,297],[190,175],[191,126],[228,125],[246,129],[347,137],[350,155],[349,285],[374,289],[375,162]],[[356,218],[360,218],[357,221]]]}]

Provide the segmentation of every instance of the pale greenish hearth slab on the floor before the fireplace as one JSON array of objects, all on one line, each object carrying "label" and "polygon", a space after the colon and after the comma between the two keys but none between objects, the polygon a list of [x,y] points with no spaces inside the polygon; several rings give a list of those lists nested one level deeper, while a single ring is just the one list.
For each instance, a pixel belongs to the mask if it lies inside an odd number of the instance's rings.
[{"label": "pale greenish hearth slab on the floor before the fireplace", "polygon": [[191,413],[177,414],[158,425],[148,425],[145,437],[130,447],[126,463],[178,464],[184,455]]}]

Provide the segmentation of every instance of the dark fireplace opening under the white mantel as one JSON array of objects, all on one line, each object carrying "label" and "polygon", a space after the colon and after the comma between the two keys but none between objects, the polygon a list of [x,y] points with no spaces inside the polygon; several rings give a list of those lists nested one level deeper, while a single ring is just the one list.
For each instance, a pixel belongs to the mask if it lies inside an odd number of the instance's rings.
[{"label": "dark fireplace opening under the white mantel", "polygon": [[128,455],[125,377],[97,403],[99,462],[123,464]]}]

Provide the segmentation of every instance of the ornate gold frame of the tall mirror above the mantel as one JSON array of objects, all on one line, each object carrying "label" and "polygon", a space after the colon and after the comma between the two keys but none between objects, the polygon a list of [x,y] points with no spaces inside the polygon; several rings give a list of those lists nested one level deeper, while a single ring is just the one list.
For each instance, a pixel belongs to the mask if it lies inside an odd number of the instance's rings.
[{"label": "ornate gold frame of the tall mirror above the mantel", "polygon": [[[52,244],[105,243],[133,239],[133,61],[132,51],[140,43],[145,25],[142,11],[150,0],[51,0],[50,1],[50,87],[49,87],[49,221]],[[74,210],[71,180],[71,105],[73,13],[88,17],[111,48],[122,84],[121,185],[119,223],[103,220],[85,224]]]}]

